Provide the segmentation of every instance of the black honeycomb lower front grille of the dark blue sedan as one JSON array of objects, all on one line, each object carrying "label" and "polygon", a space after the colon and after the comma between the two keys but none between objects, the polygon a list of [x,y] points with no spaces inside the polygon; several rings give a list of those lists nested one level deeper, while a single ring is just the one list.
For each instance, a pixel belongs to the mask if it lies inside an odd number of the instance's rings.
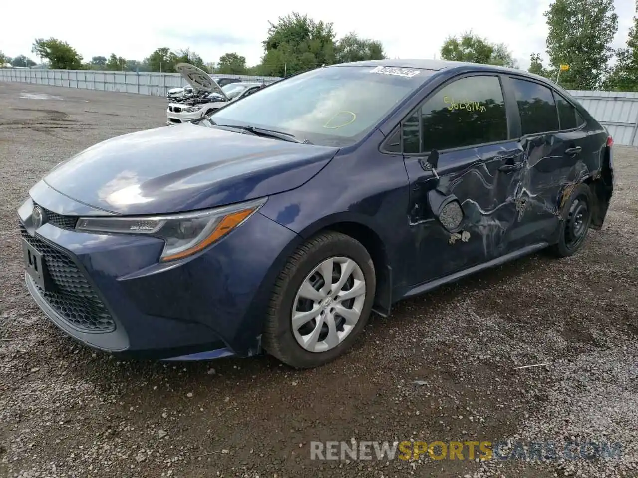
[{"label": "black honeycomb lower front grille of the dark blue sedan", "polygon": [[78,329],[90,332],[115,330],[113,317],[73,259],[40,238],[29,235],[22,224],[20,234],[44,256],[48,274],[56,286],[53,291],[45,292],[34,284],[48,305]]}]

